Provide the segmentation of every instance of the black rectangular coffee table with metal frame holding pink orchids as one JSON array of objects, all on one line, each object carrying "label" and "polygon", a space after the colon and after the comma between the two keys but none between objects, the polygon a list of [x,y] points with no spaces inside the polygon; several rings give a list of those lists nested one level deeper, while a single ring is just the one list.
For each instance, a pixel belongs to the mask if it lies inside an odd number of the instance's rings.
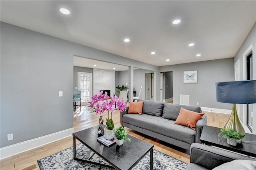
[{"label": "black rectangular coffee table with metal frame holding pink orchids", "polygon": [[[131,142],[125,142],[122,146],[114,144],[113,146],[107,147],[97,141],[97,131],[98,126],[73,133],[74,160],[116,168],[118,170],[130,170],[150,152],[150,170],[153,170],[153,144],[127,135],[128,138],[132,139]],[[106,160],[111,166],[92,162],[90,159],[83,160],[76,158],[76,139]]]}]

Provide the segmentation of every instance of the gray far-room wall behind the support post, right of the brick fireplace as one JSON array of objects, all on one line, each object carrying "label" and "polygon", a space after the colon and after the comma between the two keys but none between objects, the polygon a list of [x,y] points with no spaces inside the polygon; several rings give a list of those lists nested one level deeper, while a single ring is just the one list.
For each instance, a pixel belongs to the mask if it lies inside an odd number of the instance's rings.
[{"label": "gray far-room wall behind the support post, right of the brick fireplace", "polygon": [[[134,70],[133,90],[136,91],[136,96],[138,96],[142,86],[142,89],[140,92],[140,99],[145,99],[145,73],[152,73],[152,71],[148,71],[144,69]],[[119,77],[118,85],[126,85],[126,83],[128,82],[128,71],[119,71],[118,77]]]}]

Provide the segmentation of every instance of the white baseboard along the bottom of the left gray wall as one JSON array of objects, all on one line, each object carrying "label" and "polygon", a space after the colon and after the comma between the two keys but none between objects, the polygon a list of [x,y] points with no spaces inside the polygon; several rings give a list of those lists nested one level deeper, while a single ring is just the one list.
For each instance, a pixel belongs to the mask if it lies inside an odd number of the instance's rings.
[{"label": "white baseboard along the bottom of the left gray wall", "polygon": [[55,132],[46,136],[41,136],[39,138],[34,138],[31,140],[0,148],[0,160],[54,142],[56,140],[66,138],[68,136],[71,136],[72,133],[74,133],[74,128],[69,128],[60,132]]}]

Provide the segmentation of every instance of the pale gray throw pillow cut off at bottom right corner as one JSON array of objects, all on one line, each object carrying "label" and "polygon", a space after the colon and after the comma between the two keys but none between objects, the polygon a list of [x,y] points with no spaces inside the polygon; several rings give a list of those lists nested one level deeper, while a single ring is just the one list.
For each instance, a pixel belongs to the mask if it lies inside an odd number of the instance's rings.
[{"label": "pale gray throw pillow cut off at bottom right corner", "polygon": [[212,170],[256,170],[256,161],[254,160],[233,160],[213,168]]}]

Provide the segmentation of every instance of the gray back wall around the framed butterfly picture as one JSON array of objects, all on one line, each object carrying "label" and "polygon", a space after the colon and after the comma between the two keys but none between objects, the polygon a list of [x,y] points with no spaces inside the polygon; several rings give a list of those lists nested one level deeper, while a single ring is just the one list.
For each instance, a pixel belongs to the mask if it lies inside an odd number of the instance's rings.
[{"label": "gray back wall around the framed butterfly picture", "polygon": [[[183,71],[197,70],[198,83],[183,83]],[[159,67],[160,72],[173,71],[174,103],[180,103],[180,94],[190,95],[190,105],[232,109],[232,105],[216,101],[215,82],[232,81],[234,58],[202,61]]]}]

